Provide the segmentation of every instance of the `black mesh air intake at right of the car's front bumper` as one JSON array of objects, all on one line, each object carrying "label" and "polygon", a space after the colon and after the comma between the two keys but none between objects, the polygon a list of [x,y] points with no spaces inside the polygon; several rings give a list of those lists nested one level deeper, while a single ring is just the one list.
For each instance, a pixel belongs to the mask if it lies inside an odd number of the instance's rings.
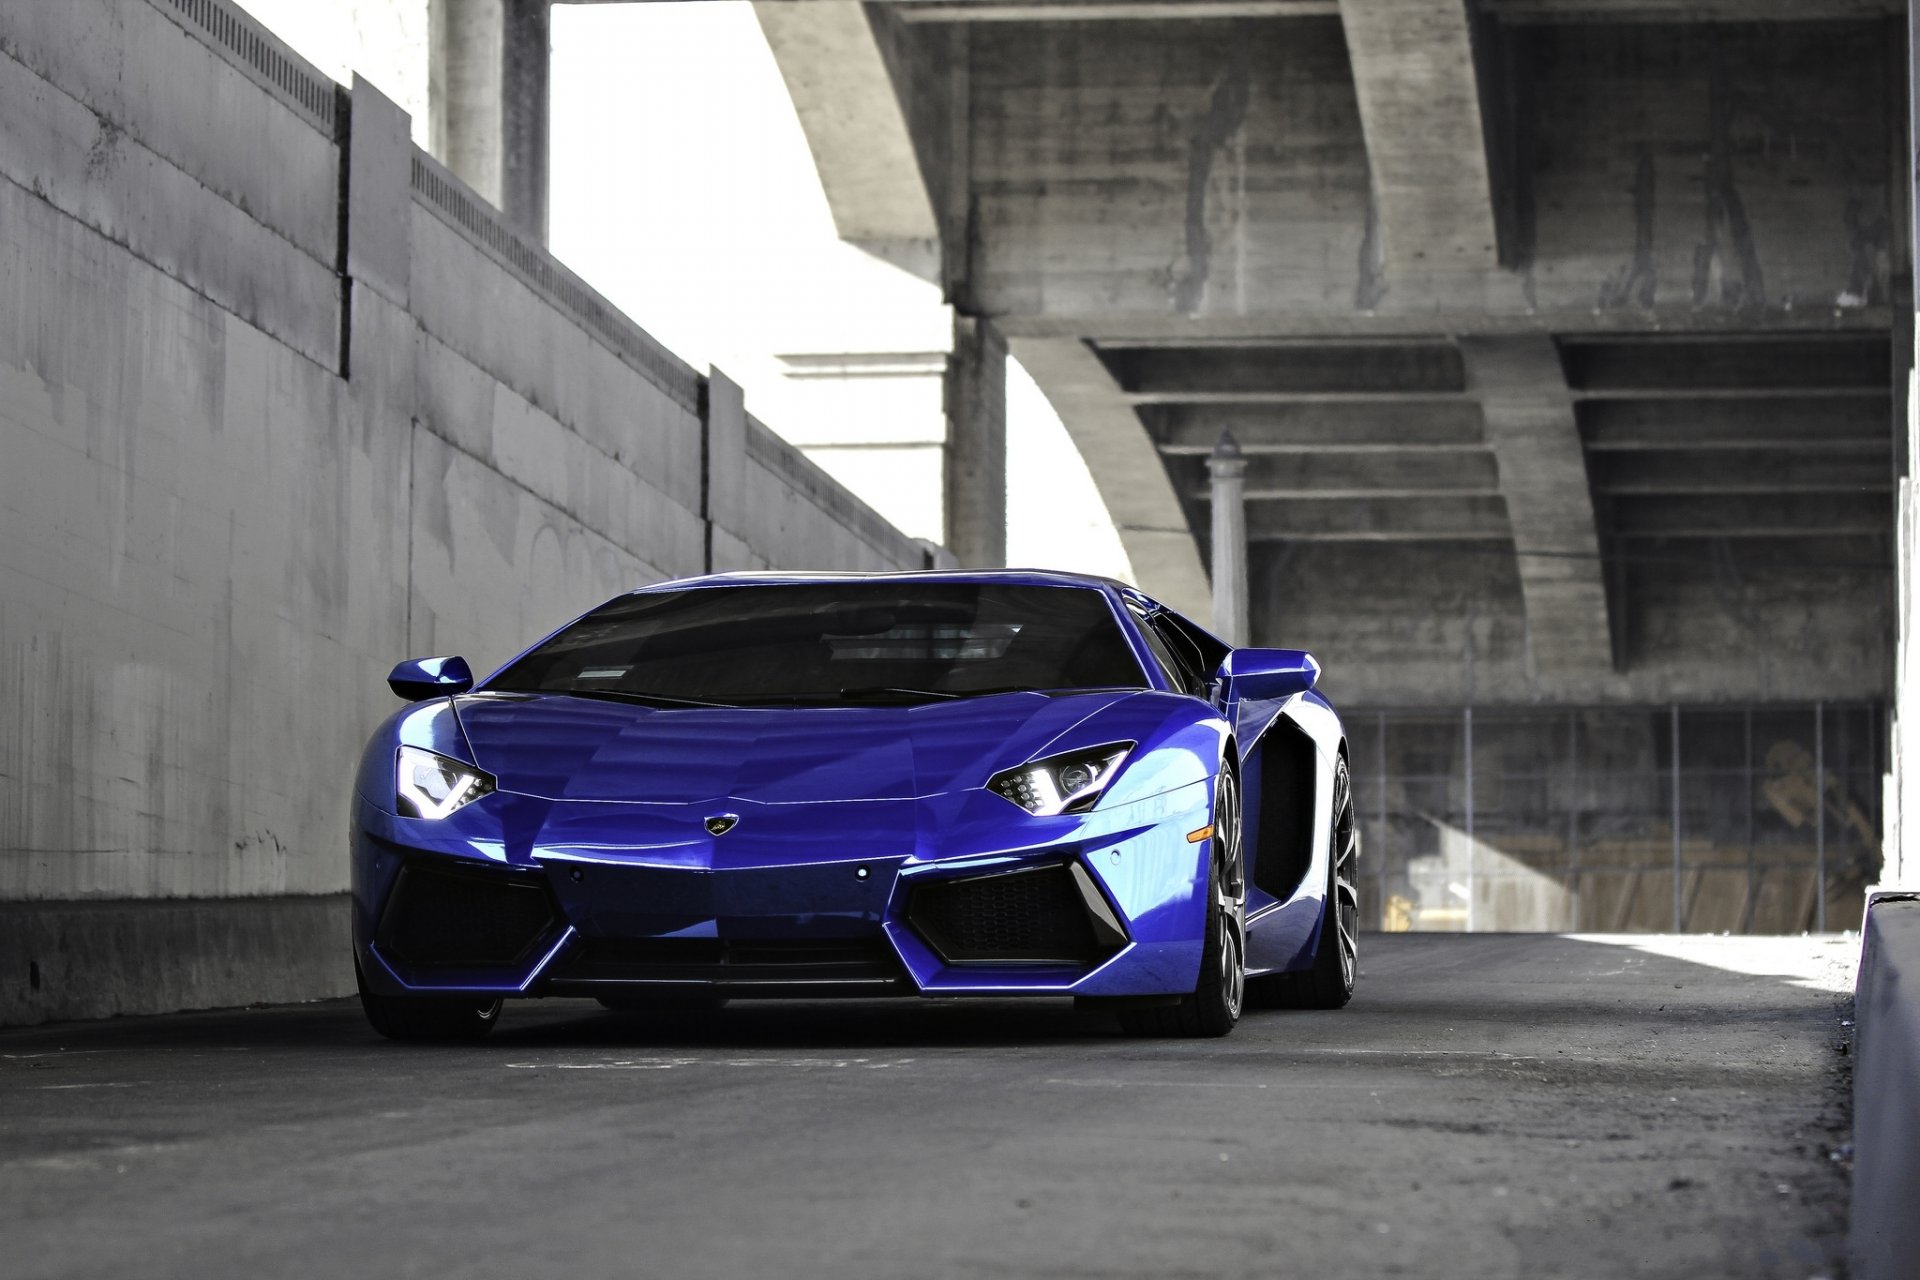
[{"label": "black mesh air intake at right of the car's front bumper", "polygon": [[906,921],[947,963],[1091,965],[1127,935],[1075,864],[916,885]]}]

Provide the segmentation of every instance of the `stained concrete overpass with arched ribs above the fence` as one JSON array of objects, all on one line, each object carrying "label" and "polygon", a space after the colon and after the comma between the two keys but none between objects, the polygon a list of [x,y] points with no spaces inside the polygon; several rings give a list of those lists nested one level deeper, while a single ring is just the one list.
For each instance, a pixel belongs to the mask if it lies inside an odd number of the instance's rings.
[{"label": "stained concrete overpass with arched ribs above the fence", "polygon": [[1148,589],[1204,608],[1231,432],[1254,635],[1350,697],[1884,691],[1905,6],[756,10],[841,232],[1006,336]]}]

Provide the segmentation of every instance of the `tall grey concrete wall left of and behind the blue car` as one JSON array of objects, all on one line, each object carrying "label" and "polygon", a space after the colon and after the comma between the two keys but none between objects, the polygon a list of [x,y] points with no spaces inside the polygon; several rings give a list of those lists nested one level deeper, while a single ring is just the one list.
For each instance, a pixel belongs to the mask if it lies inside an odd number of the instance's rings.
[{"label": "tall grey concrete wall left of and behind the blue car", "polygon": [[0,1023],[349,990],[396,658],[925,560],[221,0],[0,0]]}]

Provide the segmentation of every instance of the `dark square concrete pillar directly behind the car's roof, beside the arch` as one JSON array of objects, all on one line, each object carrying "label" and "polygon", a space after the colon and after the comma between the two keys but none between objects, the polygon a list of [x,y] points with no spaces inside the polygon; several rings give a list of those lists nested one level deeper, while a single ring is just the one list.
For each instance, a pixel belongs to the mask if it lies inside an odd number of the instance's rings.
[{"label": "dark square concrete pillar directly behind the car's roof, beside the arch", "polygon": [[947,547],[966,568],[1006,564],[1006,338],[970,315],[947,357]]}]

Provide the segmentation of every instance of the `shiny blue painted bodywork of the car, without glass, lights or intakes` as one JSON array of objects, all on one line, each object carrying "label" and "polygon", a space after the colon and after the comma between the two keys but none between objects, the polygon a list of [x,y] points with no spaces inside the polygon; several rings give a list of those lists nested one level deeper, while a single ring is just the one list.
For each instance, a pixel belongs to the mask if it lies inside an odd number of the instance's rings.
[{"label": "shiny blue painted bodywork of the car, without glass, lights or intakes", "polygon": [[[369,741],[355,781],[353,933],[367,984],[384,994],[538,996],[591,940],[864,936],[885,938],[927,996],[1192,990],[1213,841],[1188,837],[1210,823],[1229,743],[1248,756],[1242,771],[1256,781],[1269,725],[1286,716],[1306,729],[1323,756],[1315,829],[1325,831],[1342,741],[1331,704],[1294,693],[1229,697],[1223,708],[1173,693],[1114,583],[1035,572],[891,578],[1092,585],[1108,595],[1152,687],[914,706],[657,708],[490,693],[482,681],[401,708]],[[808,576],[733,574],[651,589],[801,580]],[[1110,743],[1135,747],[1091,812],[1035,818],[987,791],[1002,770]],[[438,821],[403,818],[394,802],[403,745],[476,766],[495,789]],[[737,823],[712,835],[707,819],[722,814]],[[557,908],[553,931],[511,967],[411,969],[376,944],[407,862],[543,879]],[[947,963],[906,919],[916,885],[1068,864],[1089,873],[1127,935],[1098,963]],[[1250,889],[1254,969],[1308,963],[1325,881],[1321,839],[1286,902]]]}]

